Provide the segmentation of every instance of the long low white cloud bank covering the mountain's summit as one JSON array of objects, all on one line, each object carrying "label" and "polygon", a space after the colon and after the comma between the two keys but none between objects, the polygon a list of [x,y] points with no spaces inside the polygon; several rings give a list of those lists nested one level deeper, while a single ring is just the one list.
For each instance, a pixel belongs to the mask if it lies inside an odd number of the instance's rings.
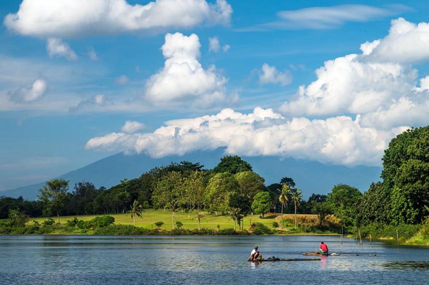
[{"label": "long low white cloud bank covering the mountain's summit", "polygon": [[405,130],[363,127],[338,116],[326,120],[286,119],[256,107],[244,114],[223,109],[212,116],[166,122],[153,133],[110,133],[90,139],[86,149],[132,150],[152,157],[225,148],[228,154],[277,155],[343,165],[379,165],[390,139]]}]

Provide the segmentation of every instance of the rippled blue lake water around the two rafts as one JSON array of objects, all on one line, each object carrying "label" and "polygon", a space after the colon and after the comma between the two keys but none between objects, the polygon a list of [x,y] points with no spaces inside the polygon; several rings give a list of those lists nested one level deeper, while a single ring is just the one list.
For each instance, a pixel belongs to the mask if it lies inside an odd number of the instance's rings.
[{"label": "rippled blue lake water around the two rafts", "polygon": [[[303,258],[320,241],[320,261],[247,262],[257,245],[264,257]],[[311,257],[311,256],[310,256]],[[0,284],[428,284],[429,248],[338,236],[0,236]]]}]

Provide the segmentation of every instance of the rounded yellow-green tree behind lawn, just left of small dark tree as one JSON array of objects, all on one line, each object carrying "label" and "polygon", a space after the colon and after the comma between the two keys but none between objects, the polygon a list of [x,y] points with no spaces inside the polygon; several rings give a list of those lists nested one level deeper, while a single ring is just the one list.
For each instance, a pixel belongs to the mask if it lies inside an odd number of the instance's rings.
[{"label": "rounded yellow-green tree behind lawn, just left of small dark tree", "polygon": [[232,174],[218,173],[212,177],[207,185],[207,200],[212,210],[222,213],[229,208],[229,196],[238,189],[238,182]]}]

